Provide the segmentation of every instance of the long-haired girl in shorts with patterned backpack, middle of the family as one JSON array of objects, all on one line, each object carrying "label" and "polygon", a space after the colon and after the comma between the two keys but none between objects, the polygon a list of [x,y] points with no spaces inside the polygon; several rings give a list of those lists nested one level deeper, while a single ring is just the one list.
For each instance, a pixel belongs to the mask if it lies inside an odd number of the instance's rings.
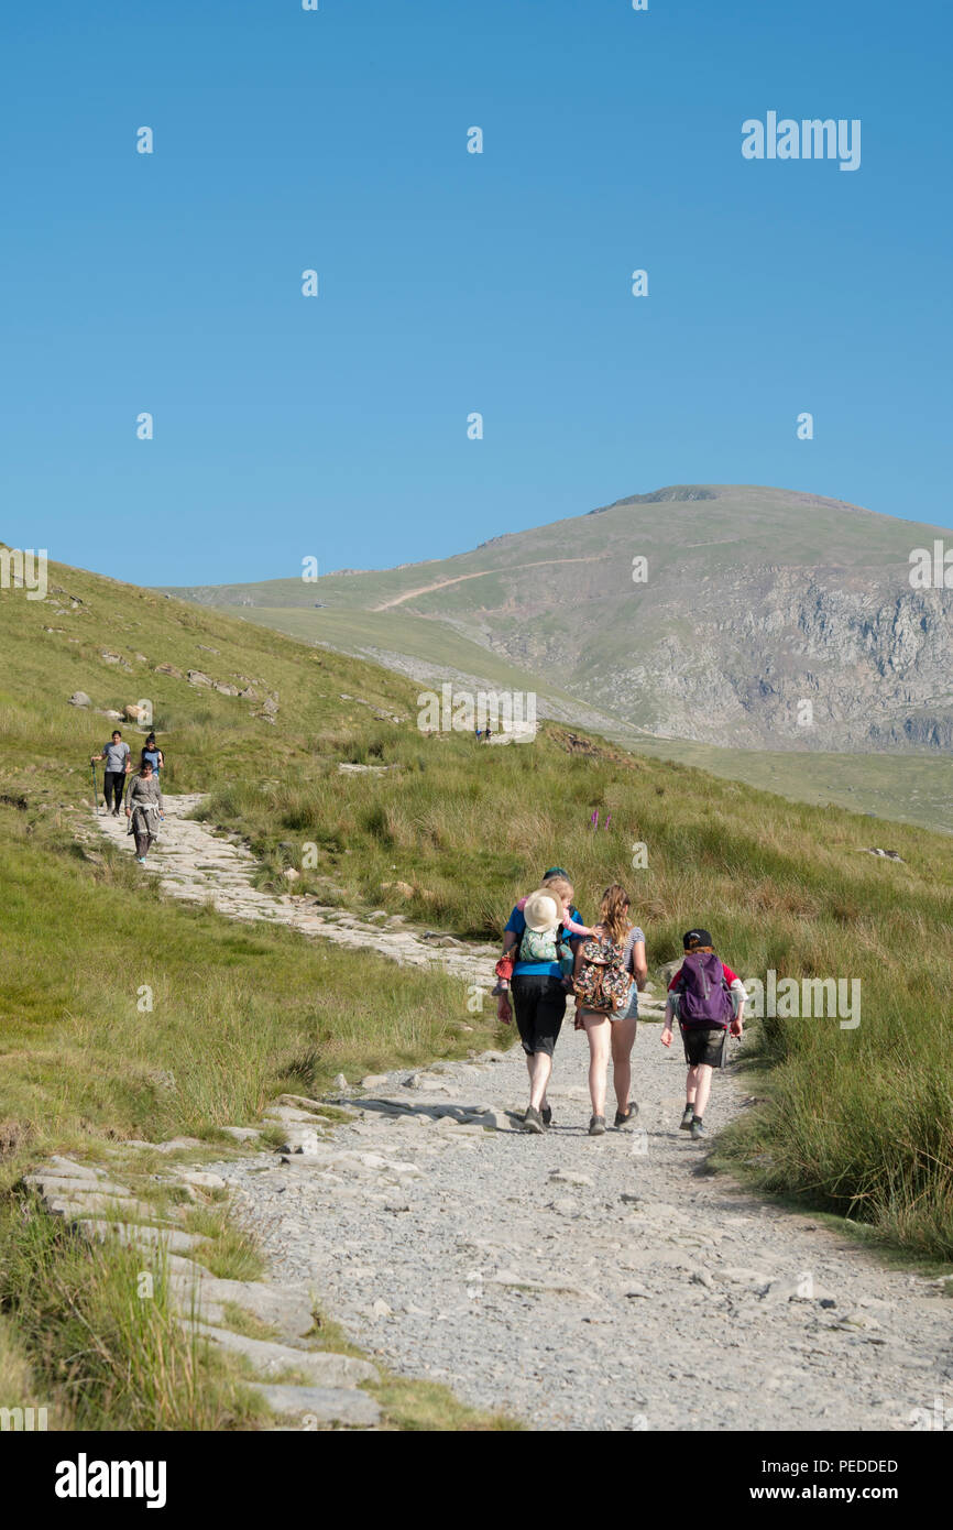
[{"label": "long-haired girl in shorts with patterned backpack, middle of the family", "polygon": [[606,887],[600,923],[575,952],[575,1028],[589,1042],[589,1135],[606,1131],[606,1074],[612,1056],[616,1097],[615,1126],[638,1115],[630,1099],[632,1048],[638,1027],[638,994],[649,976],[646,936],[629,918],[629,894],[618,881]]}]

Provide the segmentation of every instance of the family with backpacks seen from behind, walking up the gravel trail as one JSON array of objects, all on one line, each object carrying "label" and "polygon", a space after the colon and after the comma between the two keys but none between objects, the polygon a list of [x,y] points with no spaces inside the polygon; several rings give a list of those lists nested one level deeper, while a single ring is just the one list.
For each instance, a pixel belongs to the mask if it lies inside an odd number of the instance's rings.
[{"label": "family with backpacks seen from behind, walking up the gravel trail", "polygon": [[[497,962],[497,1016],[516,1024],[526,1054],[529,1105],[525,1129],[545,1132],[552,1125],[546,1089],[552,1054],[566,1014],[566,999],[575,994],[575,1030],[589,1040],[589,1135],[606,1131],[607,1068],[616,1109],[615,1126],[626,1128],[638,1115],[632,1099],[632,1048],[638,1024],[638,996],[646,987],[646,935],[630,920],[630,898],[620,883],[606,887],[598,924],[583,924],[574,907],[574,887],[561,866],[551,866],[540,887],[522,898],[503,933]],[[681,1129],[699,1138],[711,1092],[711,1074],[724,1065],[727,1034],[743,1031],[745,985],[714,953],[708,930],[688,930],[684,959],[668,984],[662,1045],[672,1045],[678,1021],[685,1048],[688,1077]],[[512,998],[512,1005],[511,1005]]]}]

